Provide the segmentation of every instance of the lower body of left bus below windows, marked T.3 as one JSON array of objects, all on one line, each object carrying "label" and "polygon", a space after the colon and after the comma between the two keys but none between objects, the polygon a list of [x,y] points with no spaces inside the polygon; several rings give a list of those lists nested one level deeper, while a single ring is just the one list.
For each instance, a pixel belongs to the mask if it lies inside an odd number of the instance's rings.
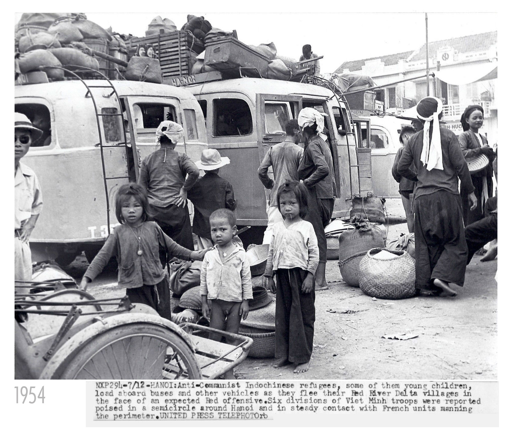
[{"label": "lower body of left bus below windows, marked T.3", "polygon": [[[126,174],[123,148],[104,149],[107,177]],[[70,242],[108,236],[100,150],[32,155],[24,158],[42,191],[43,208],[31,240]],[[116,170],[117,169],[117,170]],[[110,223],[117,224],[115,195],[127,179],[108,181]]]}]

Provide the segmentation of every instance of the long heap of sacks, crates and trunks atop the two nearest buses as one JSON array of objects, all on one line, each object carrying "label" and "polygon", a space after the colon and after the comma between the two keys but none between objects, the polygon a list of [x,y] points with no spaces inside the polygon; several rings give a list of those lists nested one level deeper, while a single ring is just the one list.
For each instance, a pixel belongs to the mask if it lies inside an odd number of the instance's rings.
[{"label": "long heap of sacks, crates and trunks atop the two nearest buses", "polygon": [[296,60],[278,56],[273,43],[246,45],[236,30],[212,27],[195,15],[187,16],[181,30],[157,16],[145,36],[134,37],[103,29],[82,13],[24,13],[15,28],[15,68],[15,79],[23,74],[18,84],[77,74],[98,78],[95,72],[154,83],[211,71],[218,78],[297,81],[305,74]]}]

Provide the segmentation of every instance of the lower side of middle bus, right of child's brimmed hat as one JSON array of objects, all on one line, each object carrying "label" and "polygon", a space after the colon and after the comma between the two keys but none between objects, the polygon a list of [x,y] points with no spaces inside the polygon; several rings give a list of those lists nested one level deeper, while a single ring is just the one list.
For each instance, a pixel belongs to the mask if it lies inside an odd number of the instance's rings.
[{"label": "lower side of middle bus, right of child's brimmed hat", "polygon": [[[215,146],[214,146],[215,147]],[[265,188],[258,178],[260,156],[258,147],[219,149],[221,156],[229,157],[230,164],[222,167],[219,175],[233,186],[237,200],[237,219],[244,225],[266,225],[267,204]]]}]

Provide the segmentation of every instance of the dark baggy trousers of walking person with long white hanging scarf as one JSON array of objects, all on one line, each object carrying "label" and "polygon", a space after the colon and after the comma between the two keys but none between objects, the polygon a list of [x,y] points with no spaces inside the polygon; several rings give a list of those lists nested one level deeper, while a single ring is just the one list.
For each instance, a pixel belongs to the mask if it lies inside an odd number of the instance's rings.
[{"label": "dark baggy trousers of walking person with long white hanging scarf", "polygon": [[434,279],[464,285],[467,245],[462,221],[460,195],[439,190],[416,197],[417,289],[432,289]]}]

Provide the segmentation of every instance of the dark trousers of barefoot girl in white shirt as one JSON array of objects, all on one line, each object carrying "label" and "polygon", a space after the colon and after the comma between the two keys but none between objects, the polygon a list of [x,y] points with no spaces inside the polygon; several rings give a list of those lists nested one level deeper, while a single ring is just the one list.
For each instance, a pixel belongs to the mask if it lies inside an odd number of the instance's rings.
[{"label": "dark trousers of barefoot girl in white shirt", "polygon": [[275,273],[275,357],[301,364],[313,352],[315,289],[303,294],[307,271],[278,269]]}]

